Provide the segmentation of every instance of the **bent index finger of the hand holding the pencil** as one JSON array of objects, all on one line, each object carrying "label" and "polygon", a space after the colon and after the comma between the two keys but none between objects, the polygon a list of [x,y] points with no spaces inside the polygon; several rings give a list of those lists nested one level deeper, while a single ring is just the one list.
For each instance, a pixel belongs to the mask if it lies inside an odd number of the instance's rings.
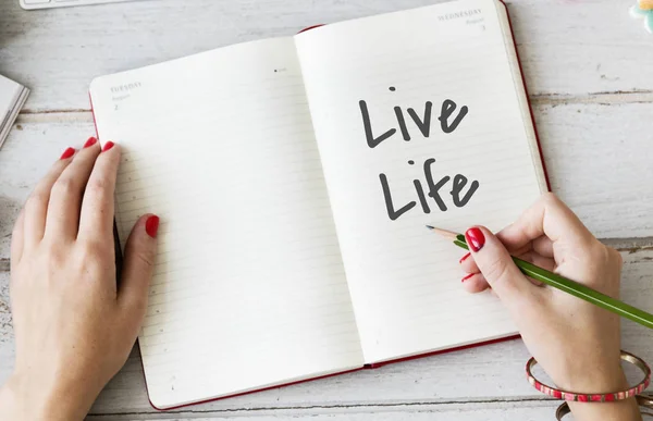
[{"label": "bent index finger of the hand holding the pencil", "polygon": [[527,209],[517,221],[497,234],[510,249],[527,248],[542,236],[552,243],[565,240],[572,247],[583,248],[595,240],[592,233],[554,194],[546,193]]}]

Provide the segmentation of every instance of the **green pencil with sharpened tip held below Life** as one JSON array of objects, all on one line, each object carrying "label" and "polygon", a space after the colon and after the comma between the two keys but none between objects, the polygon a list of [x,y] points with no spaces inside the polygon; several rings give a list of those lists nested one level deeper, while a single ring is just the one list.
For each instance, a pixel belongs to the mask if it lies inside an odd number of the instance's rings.
[{"label": "green pencil with sharpened tip held below Life", "polygon": [[[456,246],[469,250],[469,247],[467,247],[467,240],[463,234],[452,233],[451,231],[436,228],[431,225],[427,225],[427,227],[442,235],[443,237],[453,240]],[[605,294],[601,294],[589,286],[579,284],[578,282],[567,280],[566,277],[557,275],[553,272],[549,272],[547,270],[527,262],[526,260],[521,260],[516,257],[513,257],[513,260],[515,261],[515,264],[517,264],[517,268],[519,268],[525,275],[530,276],[533,280],[538,280],[546,285],[553,286],[554,288],[558,288],[565,293],[571,294],[575,297],[584,299],[588,302],[612,311],[613,313],[617,313],[626,319],[632,320],[636,323],[644,325],[649,329],[653,329],[653,314],[648,313],[644,310],[640,310],[627,305],[624,301],[619,301],[618,299],[612,298]]]}]

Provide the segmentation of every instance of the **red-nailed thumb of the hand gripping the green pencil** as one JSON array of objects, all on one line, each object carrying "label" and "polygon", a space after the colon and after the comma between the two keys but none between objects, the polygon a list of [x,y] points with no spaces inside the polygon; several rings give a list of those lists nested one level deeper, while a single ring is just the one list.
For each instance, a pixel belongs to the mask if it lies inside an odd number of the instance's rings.
[{"label": "red-nailed thumb of the hand gripping the green pencil", "polygon": [[519,271],[505,246],[484,226],[473,226],[465,233],[469,251],[479,270],[510,309],[526,302],[532,302],[539,287],[530,283]]}]

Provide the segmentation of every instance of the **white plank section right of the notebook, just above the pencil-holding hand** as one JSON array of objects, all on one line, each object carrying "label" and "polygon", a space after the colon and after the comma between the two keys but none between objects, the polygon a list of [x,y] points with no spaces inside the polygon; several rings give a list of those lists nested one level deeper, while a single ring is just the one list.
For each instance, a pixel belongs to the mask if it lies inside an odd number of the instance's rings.
[{"label": "white plank section right of the notebook, just above the pencil-holding hand", "polygon": [[653,236],[653,104],[537,104],[556,193],[601,238]]}]

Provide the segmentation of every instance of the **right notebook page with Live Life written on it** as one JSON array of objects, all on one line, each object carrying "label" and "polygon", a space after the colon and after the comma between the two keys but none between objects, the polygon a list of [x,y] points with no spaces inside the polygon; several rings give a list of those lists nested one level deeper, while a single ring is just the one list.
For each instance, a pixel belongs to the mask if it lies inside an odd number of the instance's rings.
[{"label": "right notebook page with Live Life written on it", "polygon": [[368,363],[516,331],[494,296],[464,292],[463,251],[424,227],[501,230],[546,189],[497,7],[443,3],[296,37]]}]

